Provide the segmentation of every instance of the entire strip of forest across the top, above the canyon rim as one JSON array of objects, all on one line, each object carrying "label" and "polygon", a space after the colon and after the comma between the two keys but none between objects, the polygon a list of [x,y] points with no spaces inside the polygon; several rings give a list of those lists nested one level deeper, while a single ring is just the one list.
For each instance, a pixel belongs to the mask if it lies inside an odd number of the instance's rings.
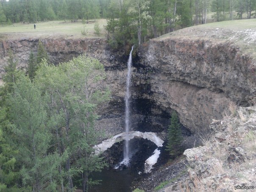
[{"label": "entire strip of forest across the top, above the canyon rim", "polygon": [[0,23],[106,18],[112,47],[140,44],[207,20],[255,17],[256,0],[1,0],[0,4]]}]

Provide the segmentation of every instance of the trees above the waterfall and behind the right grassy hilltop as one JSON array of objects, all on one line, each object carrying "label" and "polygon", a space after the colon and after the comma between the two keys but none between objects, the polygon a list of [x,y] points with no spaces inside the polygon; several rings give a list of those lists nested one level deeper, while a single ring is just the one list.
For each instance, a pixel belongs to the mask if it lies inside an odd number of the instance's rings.
[{"label": "trees above the waterfall and behind the right grassy hilltop", "polygon": [[175,29],[213,21],[256,16],[255,0],[111,0],[107,9],[109,43],[141,44]]}]

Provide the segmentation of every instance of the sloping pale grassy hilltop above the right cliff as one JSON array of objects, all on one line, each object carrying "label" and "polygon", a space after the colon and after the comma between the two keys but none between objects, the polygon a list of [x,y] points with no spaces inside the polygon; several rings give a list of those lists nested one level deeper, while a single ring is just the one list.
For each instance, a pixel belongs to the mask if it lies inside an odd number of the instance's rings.
[{"label": "sloping pale grassy hilltop above the right cliff", "polygon": [[256,58],[256,19],[212,22],[184,28],[156,38],[210,40],[215,43],[233,44],[247,55]]}]

